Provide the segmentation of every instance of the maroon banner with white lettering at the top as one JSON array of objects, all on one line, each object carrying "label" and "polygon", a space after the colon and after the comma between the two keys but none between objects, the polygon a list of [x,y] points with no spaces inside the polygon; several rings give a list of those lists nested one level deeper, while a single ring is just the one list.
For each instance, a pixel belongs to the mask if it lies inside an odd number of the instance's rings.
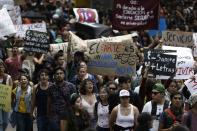
[{"label": "maroon banner with white lettering at the top", "polygon": [[159,3],[159,0],[114,0],[113,28],[158,29]]}]

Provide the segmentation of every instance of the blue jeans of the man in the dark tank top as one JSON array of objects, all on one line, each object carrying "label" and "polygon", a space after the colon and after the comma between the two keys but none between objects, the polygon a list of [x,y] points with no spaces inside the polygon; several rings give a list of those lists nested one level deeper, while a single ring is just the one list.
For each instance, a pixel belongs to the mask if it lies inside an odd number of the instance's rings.
[{"label": "blue jeans of the man in the dark tank top", "polygon": [[48,131],[49,120],[46,116],[37,117],[38,131]]}]

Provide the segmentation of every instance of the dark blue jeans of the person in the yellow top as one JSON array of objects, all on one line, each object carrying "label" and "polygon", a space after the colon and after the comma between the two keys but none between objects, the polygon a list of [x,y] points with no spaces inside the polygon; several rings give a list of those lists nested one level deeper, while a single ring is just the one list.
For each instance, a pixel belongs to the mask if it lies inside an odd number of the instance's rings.
[{"label": "dark blue jeans of the person in the yellow top", "polygon": [[29,113],[16,113],[16,131],[33,131],[33,120]]}]

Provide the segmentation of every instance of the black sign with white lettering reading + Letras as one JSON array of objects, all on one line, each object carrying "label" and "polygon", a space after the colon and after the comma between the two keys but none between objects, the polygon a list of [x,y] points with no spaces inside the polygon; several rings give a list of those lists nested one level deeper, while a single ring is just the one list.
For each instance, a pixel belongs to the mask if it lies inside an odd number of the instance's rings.
[{"label": "black sign with white lettering reading + Letras", "polygon": [[165,52],[170,51],[148,49],[144,52],[144,61],[154,75],[173,76],[176,73],[176,55],[165,54]]}]

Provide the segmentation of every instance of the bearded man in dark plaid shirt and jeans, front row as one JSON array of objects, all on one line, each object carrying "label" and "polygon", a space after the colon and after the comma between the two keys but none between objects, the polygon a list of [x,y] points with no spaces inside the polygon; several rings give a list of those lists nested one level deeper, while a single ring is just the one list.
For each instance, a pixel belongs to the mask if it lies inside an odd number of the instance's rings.
[{"label": "bearded man in dark plaid shirt and jeans, front row", "polygon": [[49,118],[49,131],[60,130],[61,114],[70,106],[69,98],[76,88],[72,83],[65,81],[65,70],[57,67],[54,70],[55,83],[49,87],[47,116]]}]

